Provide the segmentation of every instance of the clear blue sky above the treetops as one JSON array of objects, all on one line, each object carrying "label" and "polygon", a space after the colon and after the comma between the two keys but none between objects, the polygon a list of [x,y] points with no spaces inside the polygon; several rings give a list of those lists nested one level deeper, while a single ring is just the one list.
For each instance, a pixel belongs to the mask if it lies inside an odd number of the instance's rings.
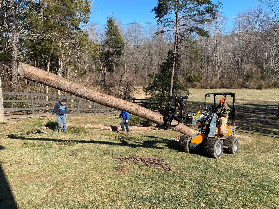
[{"label": "clear blue sky above the treetops", "polygon": [[[217,0],[212,0],[216,3]],[[222,12],[225,17],[236,16],[253,6],[254,0],[223,0]],[[105,24],[107,17],[113,12],[122,23],[155,22],[154,13],[150,12],[157,0],[94,0],[89,23]]]}]

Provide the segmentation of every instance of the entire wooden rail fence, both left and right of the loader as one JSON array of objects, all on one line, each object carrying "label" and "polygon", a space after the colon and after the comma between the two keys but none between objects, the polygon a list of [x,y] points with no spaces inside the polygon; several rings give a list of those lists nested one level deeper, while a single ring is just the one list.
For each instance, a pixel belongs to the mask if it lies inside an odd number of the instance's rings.
[{"label": "entire wooden rail fence, both left and right of the loader", "polygon": [[[5,116],[7,119],[49,116],[54,105],[63,98],[68,100],[68,115],[103,115],[119,112],[117,109],[106,107],[78,96],[39,94],[33,92],[3,92]],[[150,103],[146,99],[137,98],[132,98],[129,101],[147,108],[149,104],[157,104],[156,101]],[[187,102],[187,107],[193,110],[203,109],[204,103]],[[236,107],[236,114],[242,117],[279,120],[279,103],[277,105],[243,103],[243,106]]]}]

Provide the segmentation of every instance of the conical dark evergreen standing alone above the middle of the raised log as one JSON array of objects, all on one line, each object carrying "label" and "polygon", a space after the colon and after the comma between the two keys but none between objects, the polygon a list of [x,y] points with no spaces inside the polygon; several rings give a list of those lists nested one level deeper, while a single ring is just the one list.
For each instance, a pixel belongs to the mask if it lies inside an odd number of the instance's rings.
[{"label": "conical dark evergreen standing alone above the middle of the raised log", "polygon": [[103,88],[106,87],[106,74],[113,72],[124,49],[124,41],[115,19],[110,15],[101,45],[100,62],[103,75]]}]

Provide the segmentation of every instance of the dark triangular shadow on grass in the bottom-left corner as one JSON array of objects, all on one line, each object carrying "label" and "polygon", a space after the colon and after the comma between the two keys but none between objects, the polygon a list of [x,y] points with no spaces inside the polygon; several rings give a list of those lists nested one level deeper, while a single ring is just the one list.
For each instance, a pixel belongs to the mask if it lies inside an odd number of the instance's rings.
[{"label": "dark triangular shadow on grass in the bottom-left corner", "polygon": [[[5,147],[0,146],[0,150]],[[10,185],[6,179],[3,168],[0,164],[0,208],[2,209],[17,209],[17,203],[12,195]]]}]

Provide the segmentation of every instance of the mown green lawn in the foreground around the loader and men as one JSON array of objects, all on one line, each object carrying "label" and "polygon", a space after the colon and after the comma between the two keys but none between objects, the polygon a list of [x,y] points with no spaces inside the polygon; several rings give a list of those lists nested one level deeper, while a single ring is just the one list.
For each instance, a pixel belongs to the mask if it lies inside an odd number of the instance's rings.
[{"label": "mown green lawn in the foreground around the loader and men", "polygon": [[[198,91],[191,93],[195,98]],[[242,99],[249,97],[243,94]],[[121,122],[113,115],[67,120]],[[96,129],[25,135],[55,118],[10,121],[16,123],[0,126],[0,137],[14,134],[0,139],[0,208],[12,208],[15,202],[18,208],[201,208],[201,203],[218,209],[279,208],[278,121],[237,120],[239,152],[219,159],[180,152],[171,141],[179,133],[172,130],[133,132],[129,141],[121,140],[120,133]],[[108,152],[163,157],[171,170],[118,163],[103,154]],[[119,172],[120,165],[128,170]]]}]

